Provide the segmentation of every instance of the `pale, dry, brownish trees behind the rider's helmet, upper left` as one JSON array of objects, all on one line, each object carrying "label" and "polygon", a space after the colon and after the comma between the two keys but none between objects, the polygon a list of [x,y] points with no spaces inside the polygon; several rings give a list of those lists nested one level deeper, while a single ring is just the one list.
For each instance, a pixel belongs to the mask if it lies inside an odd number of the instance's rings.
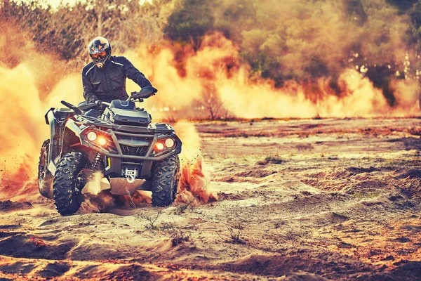
[{"label": "pale, dry, brownish trees behind the rider's helmet, upper left", "polygon": [[161,0],[161,6],[140,6],[130,0],[87,0],[57,9],[44,1],[0,1],[0,5],[2,25],[21,27],[32,34],[40,51],[58,53],[66,60],[88,59],[86,46],[98,35],[121,51],[142,41],[162,41],[173,6],[171,0]]}]

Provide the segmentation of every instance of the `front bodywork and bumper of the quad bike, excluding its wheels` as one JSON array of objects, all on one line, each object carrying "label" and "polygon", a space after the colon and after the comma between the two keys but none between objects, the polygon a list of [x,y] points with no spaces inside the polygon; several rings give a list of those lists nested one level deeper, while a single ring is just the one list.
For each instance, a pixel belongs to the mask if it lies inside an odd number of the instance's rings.
[{"label": "front bodywork and bumper of the quad bike, excluding its wheels", "polygon": [[[113,194],[150,190],[154,163],[180,154],[182,148],[171,125],[152,124],[151,115],[135,107],[130,100],[113,100],[98,118],[77,115],[67,108],[51,108],[45,119],[51,132],[48,171],[54,175],[64,155],[81,152],[91,169],[98,169],[93,165],[97,160],[100,162],[97,165],[109,181]],[[106,145],[89,141],[90,132],[104,138]],[[172,138],[175,145],[157,151],[156,143],[167,138]]]}]

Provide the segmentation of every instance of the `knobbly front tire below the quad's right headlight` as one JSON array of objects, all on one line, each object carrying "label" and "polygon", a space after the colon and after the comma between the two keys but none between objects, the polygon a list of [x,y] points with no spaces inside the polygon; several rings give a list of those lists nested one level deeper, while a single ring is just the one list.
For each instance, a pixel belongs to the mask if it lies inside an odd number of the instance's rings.
[{"label": "knobbly front tire below the quad's right headlight", "polygon": [[156,162],[152,172],[152,205],[166,207],[175,200],[180,178],[178,155]]}]

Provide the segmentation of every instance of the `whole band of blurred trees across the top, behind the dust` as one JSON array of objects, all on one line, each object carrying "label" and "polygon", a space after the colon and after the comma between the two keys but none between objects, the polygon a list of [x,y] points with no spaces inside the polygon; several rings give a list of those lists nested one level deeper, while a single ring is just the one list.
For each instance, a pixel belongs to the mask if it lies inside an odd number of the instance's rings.
[{"label": "whole band of blurred trees across the top, behind the dust", "polygon": [[[394,78],[421,69],[421,0],[87,0],[57,9],[44,1],[0,0],[0,23],[31,34],[39,50],[66,60],[88,60],[86,45],[98,35],[114,50],[147,42],[201,46],[203,38],[222,32],[239,48],[251,74],[274,80],[316,83],[328,77],[340,94],[338,77],[349,67],[368,69],[366,77],[382,89],[389,104]],[[416,53],[415,53],[416,52]],[[178,54],[178,56],[180,56]],[[181,55],[182,57],[182,55]]]}]

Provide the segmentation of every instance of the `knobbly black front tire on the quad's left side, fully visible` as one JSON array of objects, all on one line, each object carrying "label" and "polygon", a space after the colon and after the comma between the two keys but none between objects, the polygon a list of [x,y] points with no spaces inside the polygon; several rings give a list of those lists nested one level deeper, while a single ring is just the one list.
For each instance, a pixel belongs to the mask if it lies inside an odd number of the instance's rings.
[{"label": "knobbly black front tire on the quad's left side, fully visible", "polygon": [[81,207],[83,194],[79,174],[88,160],[81,152],[69,152],[58,162],[53,183],[55,208],[62,215],[71,215]]}]

